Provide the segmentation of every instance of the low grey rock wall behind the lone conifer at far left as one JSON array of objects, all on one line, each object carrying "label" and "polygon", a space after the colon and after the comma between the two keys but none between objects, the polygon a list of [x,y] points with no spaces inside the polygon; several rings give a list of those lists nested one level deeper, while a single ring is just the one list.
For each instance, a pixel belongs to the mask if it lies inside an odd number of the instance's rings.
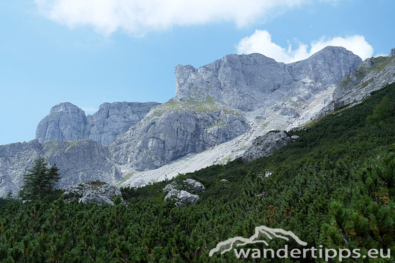
[{"label": "low grey rock wall behind the lone conifer at far left", "polygon": [[0,146],[0,196],[5,196],[9,190],[17,194],[23,185],[23,175],[39,156],[49,164],[56,163],[59,168],[61,179],[57,188],[68,188],[91,180],[111,184],[122,180],[118,164],[109,150],[91,139],[43,144],[35,139],[28,143]]}]

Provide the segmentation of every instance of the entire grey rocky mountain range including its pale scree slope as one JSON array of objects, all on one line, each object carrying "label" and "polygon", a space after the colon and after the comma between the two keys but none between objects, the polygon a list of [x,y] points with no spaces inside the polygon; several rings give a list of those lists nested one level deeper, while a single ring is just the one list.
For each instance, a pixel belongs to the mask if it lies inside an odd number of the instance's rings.
[{"label": "entire grey rocky mountain range including its pale scree slope", "polygon": [[141,186],[226,163],[257,136],[310,122],[360,63],[332,46],[291,64],[233,54],[199,69],[177,65],[175,97],[164,104],[106,103],[87,116],[73,104],[56,105],[40,121],[37,140],[0,147],[2,194],[20,187],[29,156],[56,162],[62,187],[122,177],[122,186]]}]

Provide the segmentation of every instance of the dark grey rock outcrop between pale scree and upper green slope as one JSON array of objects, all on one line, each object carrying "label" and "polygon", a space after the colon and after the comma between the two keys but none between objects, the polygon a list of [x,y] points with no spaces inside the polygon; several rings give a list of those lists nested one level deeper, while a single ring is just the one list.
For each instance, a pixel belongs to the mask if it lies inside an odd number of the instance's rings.
[{"label": "dark grey rock outcrop between pale scree and upper green slope", "polygon": [[255,159],[272,155],[276,150],[288,144],[291,139],[284,132],[269,132],[257,137],[252,145],[244,152],[243,161],[250,162]]}]

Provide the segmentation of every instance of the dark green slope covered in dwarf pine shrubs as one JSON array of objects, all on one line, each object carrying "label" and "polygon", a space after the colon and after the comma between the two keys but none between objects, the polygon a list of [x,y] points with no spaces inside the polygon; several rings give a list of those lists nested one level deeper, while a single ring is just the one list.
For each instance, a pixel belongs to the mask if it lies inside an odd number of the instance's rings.
[{"label": "dark green slope covered in dwarf pine shrubs", "polygon": [[[386,190],[383,180],[371,180],[369,173],[374,176],[383,170],[394,176],[394,169],[388,167],[394,164],[395,157],[373,160],[378,163],[377,169],[363,165],[377,154],[394,152],[394,109],[392,84],[355,107],[288,132],[299,135],[299,139],[272,156],[251,163],[238,158],[227,165],[187,174],[206,187],[197,205],[175,207],[163,201],[161,189],[166,182],[123,189],[127,206],[64,203],[62,197],[53,202],[25,204],[1,200],[0,261],[237,262],[233,252],[212,259],[208,253],[220,241],[249,237],[259,225],[291,230],[309,248],[342,246],[336,219],[343,217],[340,224],[347,223],[350,228],[354,216],[366,224],[346,233],[350,246],[359,238],[360,244],[369,246],[366,248],[394,249],[394,188]],[[359,172],[364,166],[368,168]],[[267,171],[272,175],[262,179],[259,174]],[[356,188],[366,185],[370,195]],[[364,200],[361,208],[369,205],[366,211],[375,222],[358,217],[348,198],[351,193],[353,200],[359,195]],[[344,215],[339,216],[338,211],[345,211]],[[347,218],[347,212],[353,218]],[[380,228],[382,222],[385,228]],[[269,247],[282,248],[284,244],[290,249],[297,247],[296,243],[279,239]],[[253,244],[247,248],[263,246]]]}]

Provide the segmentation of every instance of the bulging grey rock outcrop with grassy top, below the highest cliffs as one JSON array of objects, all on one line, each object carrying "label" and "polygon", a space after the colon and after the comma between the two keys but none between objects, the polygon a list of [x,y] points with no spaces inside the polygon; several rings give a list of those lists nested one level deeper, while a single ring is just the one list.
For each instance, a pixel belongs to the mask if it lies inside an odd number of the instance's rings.
[{"label": "bulging grey rock outcrop with grassy top, below the highest cliffs", "polygon": [[110,147],[115,160],[137,171],[227,142],[249,129],[245,117],[206,96],[154,107]]}]

